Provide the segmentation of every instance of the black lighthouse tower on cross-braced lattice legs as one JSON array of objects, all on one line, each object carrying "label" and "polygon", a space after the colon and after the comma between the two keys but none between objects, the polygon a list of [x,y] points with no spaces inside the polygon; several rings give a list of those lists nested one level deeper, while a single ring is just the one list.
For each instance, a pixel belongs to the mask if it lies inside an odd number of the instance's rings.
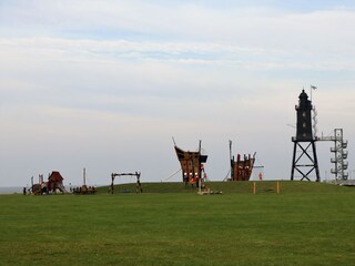
[{"label": "black lighthouse tower on cross-braced lattice legs", "polygon": [[[312,101],[303,90],[298,96],[297,112],[297,132],[292,137],[294,143],[291,180],[294,180],[295,171],[302,175],[301,181],[311,181],[310,175],[315,172],[316,182],[321,181],[317,153],[315,147],[316,137],[312,132]],[[310,151],[312,150],[312,151]]]}]

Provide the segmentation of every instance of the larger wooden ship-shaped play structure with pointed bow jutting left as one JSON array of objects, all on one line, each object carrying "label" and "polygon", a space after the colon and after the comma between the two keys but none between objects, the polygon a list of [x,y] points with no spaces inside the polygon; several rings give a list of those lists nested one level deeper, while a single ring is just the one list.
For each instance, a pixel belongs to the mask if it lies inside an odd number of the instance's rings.
[{"label": "larger wooden ship-shaped play structure with pointed bow jutting left", "polygon": [[197,184],[200,180],[205,178],[204,163],[207,162],[207,155],[201,154],[201,141],[197,152],[183,151],[174,142],[178,160],[181,164],[182,181],[187,184]]}]

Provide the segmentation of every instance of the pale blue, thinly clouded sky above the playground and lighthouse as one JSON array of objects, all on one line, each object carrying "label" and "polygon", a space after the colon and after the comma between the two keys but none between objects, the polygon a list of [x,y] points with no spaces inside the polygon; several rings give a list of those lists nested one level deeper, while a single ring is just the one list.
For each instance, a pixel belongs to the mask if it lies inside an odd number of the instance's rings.
[{"label": "pale blue, thinly clouded sky above the playground and lighthouse", "polygon": [[[290,180],[311,85],[318,134],[344,129],[355,178],[354,25],[349,0],[0,0],[0,186],[51,171],[80,185],[83,168],[90,185],[160,182],[180,168],[172,137],[202,141],[212,181],[229,140]],[[333,143],[316,145],[334,178]]]}]

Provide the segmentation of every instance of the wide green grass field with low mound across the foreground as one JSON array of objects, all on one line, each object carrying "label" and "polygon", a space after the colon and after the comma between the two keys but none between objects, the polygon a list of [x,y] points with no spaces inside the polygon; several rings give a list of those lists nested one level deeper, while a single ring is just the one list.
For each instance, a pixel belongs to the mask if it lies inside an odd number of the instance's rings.
[{"label": "wide green grass field with low mound across the foreground", "polygon": [[0,195],[0,265],[355,265],[355,187],[209,185]]}]

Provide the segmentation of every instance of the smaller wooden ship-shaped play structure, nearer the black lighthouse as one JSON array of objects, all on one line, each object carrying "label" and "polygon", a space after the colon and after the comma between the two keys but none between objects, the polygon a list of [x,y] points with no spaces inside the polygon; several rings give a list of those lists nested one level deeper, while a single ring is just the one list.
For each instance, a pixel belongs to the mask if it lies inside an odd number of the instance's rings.
[{"label": "smaller wooden ship-shaped play structure, nearer the black lighthouse", "polygon": [[241,154],[236,154],[236,160],[232,156],[232,141],[230,141],[230,160],[231,160],[231,181],[248,181],[253,173],[255,153],[242,157]]}]

